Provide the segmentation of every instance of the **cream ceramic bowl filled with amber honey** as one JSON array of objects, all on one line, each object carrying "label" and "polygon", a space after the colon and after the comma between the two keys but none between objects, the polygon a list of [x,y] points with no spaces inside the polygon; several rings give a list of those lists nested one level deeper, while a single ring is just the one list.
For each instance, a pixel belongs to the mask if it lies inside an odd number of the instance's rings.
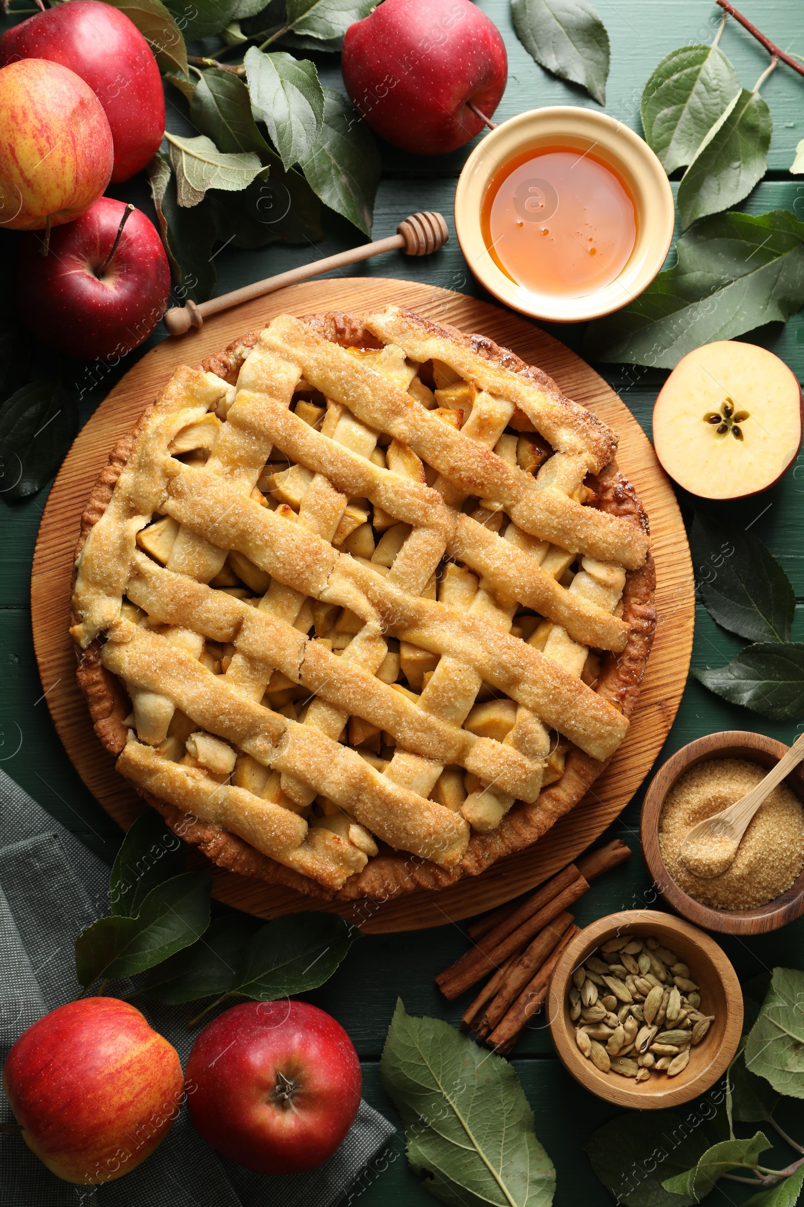
[{"label": "cream ceramic bowl filled with amber honey", "polygon": [[662,164],[633,130],[569,105],[503,122],[456,189],[460,250],[522,314],[581,322],[632,302],[662,268],[675,223]]}]

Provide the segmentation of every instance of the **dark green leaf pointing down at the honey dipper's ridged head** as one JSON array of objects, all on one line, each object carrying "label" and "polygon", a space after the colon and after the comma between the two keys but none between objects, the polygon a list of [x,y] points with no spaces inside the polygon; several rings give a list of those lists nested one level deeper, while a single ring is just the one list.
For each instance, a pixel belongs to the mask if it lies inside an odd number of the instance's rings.
[{"label": "dark green leaf pointing down at the honey dipper's ridged head", "polygon": [[380,152],[365,122],[331,88],[324,88],[321,134],[301,170],[324,205],[371,234]]}]

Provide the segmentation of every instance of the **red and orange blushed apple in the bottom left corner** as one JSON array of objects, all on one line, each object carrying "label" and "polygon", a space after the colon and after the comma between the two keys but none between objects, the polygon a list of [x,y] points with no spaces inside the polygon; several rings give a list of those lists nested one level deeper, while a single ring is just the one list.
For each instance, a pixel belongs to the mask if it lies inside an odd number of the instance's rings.
[{"label": "red and orange blushed apple in the bottom left corner", "polygon": [[183,1101],[178,1053],[116,997],[70,1002],[23,1031],[2,1085],[31,1151],[82,1185],[145,1161]]}]

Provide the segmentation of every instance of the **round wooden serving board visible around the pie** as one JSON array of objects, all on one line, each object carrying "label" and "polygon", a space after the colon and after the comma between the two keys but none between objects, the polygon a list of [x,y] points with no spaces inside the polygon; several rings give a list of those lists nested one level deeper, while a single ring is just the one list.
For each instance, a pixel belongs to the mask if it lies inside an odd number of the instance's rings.
[{"label": "round wooden serving board visible around the pie", "polygon": [[[305,909],[330,909],[365,932],[416,931],[493,909],[563,868],[614,821],[658,754],[676,715],[692,652],[692,564],[673,489],[650,441],[606,383],[579,356],[527,319],[462,293],[385,278],[306,281],[209,319],[200,331],[168,339],[147,352],[115,386],[78,433],[47,500],[34,553],[31,611],[34,647],[53,722],[89,791],[123,827],[147,807],[115,770],[94,734],[75,678],[69,635],[70,576],[81,513],[117,439],[135,424],[177,365],[195,365],[237,336],[281,313],[323,310],[368,314],[395,303],[468,332],[482,332],[551,374],[569,398],[587,407],[620,435],[617,461],[650,517],[658,588],[658,626],[630,730],[585,800],[527,851],[493,864],[480,877],[442,892],[416,892],[392,902],[327,905],[289,888],[216,869],[218,900],[260,917]],[[200,857],[199,857],[200,858]]]}]

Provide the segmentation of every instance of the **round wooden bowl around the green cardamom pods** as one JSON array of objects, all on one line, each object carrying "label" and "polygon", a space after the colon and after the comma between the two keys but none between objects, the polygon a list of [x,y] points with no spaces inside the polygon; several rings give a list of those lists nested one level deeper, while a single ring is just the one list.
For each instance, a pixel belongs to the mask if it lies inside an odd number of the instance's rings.
[{"label": "round wooden bowl around the green cardamom pods", "polygon": [[[569,1016],[573,973],[595,947],[617,934],[656,938],[663,947],[674,951],[700,986],[702,1011],[715,1015],[704,1038],[692,1049],[689,1063],[675,1077],[655,1073],[638,1084],[630,1077],[601,1073],[575,1042],[575,1027]],[[740,982],[723,951],[703,931],[659,910],[629,909],[609,914],[576,934],[556,964],[547,1004],[556,1050],[576,1081],[599,1098],[634,1110],[676,1107],[705,1094],[726,1072],[743,1033]]]}]

